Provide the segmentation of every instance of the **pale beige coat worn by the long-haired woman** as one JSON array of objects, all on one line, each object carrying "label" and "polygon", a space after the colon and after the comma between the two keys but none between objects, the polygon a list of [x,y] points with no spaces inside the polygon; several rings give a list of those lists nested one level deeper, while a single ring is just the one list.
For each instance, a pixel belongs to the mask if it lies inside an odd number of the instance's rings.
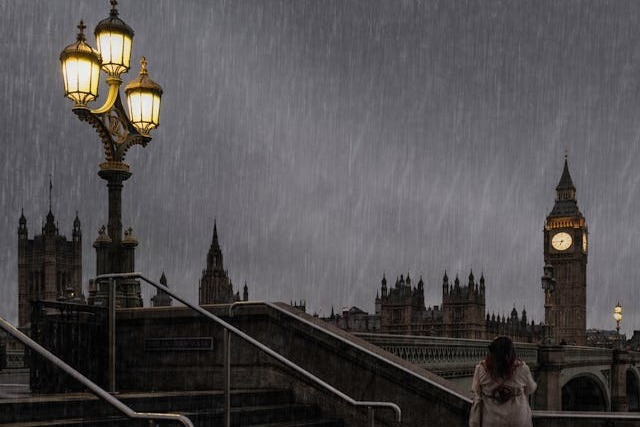
[{"label": "pale beige coat worn by the long-haired woman", "polygon": [[[474,400],[482,399],[482,427],[532,427],[529,395],[537,385],[527,364],[522,361],[517,363],[511,378],[504,382],[493,379],[484,363],[476,365],[471,391]],[[500,391],[507,397],[503,403],[499,401]],[[473,426],[471,421],[470,425]]]}]

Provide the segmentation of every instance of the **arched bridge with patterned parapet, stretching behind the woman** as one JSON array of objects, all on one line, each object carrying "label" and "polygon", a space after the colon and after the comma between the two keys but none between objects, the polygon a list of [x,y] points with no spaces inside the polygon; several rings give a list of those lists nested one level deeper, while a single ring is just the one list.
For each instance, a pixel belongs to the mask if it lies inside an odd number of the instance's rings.
[{"label": "arched bridge with patterned parapet, stretching behind the woman", "polygon": [[[471,389],[475,365],[490,341],[457,338],[356,334],[366,341]],[[554,411],[639,411],[640,353],[575,346],[516,343],[518,357],[538,383],[534,409]]]}]

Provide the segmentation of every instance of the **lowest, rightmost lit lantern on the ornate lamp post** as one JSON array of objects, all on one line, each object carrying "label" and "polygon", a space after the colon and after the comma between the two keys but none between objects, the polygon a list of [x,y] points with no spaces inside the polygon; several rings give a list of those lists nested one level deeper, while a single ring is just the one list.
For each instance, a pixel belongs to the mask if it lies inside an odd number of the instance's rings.
[{"label": "lowest, rightmost lit lantern on the ornate lamp post", "polygon": [[125,88],[129,104],[129,120],[142,135],[158,127],[160,123],[160,98],[162,88],[147,73],[147,60],[140,60],[140,75]]}]

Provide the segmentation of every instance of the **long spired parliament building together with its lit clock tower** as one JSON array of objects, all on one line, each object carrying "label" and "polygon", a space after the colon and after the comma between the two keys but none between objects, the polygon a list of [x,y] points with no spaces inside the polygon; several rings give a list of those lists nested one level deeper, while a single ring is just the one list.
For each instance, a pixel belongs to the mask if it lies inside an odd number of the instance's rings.
[{"label": "long spired parliament building together with its lit clock tower", "polygon": [[[565,157],[555,203],[543,228],[544,262],[554,271],[553,289],[545,294],[549,312],[546,321],[553,331],[552,341],[558,344],[586,344],[587,238],[586,220],[578,208]],[[542,339],[543,324],[529,321],[524,308],[518,313],[513,307],[508,317],[486,312],[488,286],[484,274],[476,281],[470,272],[466,283],[456,275],[451,283],[445,272],[442,303],[432,307],[425,306],[422,278],[414,286],[409,274],[406,278],[401,275],[392,287],[387,285],[383,275],[375,297],[375,314],[352,307],[338,314],[332,310],[326,320],[353,332],[468,339],[508,335],[520,342]]]}]

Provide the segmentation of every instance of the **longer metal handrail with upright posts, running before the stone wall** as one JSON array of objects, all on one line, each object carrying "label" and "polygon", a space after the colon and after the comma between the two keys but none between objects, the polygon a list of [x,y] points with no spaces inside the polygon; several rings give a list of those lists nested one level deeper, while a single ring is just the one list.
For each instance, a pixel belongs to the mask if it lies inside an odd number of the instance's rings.
[{"label": "longer metal handrail with upright posts, running before the stone wall", "polygon": [[[371,424],[370,425],[373,425],[373,420],[372,420],[373,410],[371,409],[373,407],[385,407],[385,408],[393,409],[393,411],[396,414],[396,421],[397,422],[401,422],[401,420],[402,420],[402,410],[395,403],[393,403],[393,402],[367,402],[367,401],[363,402],[363,401],[357,401],[357,400],[353,399],[352,397],[344,394],[340,390],[338,390],[335,387],[327,384],[326,382],[324,382],[320,378],[318,378],[315,375],[313,375],[312,373],[308,372],[304,368],[296,365],[295,363],[293,363],[292,361],[290,361],[286,357],[282,356],[280,353],[275,352],[274,350],[272,350],[269,347],[267,347],[264,344],[262,344],[260,341],[257,341],[256,339],[254,339],[251,336],[247,335],[246,333],[242,332],[240,329],[236,328],[235,326],[225,322],[224,320],[220,319],[218,316],[216,316],[216,315],[204,310],[202,307],[194,305],[194,304],[191,304],[190,302],[186,301],[184,298],[182,298],[179,295],[175,294],[168,287],[153,282],[152,280],[144,277],[141,273],[103,274],[103,275],[97,276],[95,280],[98,281],[98,280],[102,280],[102,279],[118,279],[118,278],[138,278],[138,279],[142,279],[145,282],[149,283],[151,286],[154,286],[155,288],[166,292],[167,294],[169,294],[171,297],[173,297],[177,301],[181,302],[182,304],[186,305],[187,307],[191,308],[192,310],[202,314],[206,318],[208,318],[210,320],[213,320],[218,325],[220,325],[220,326],[222,326],[224,328],[224,330],[225,330],[225,336],[224,336],[225,381],[224,382],[225,382],[225,425],[226,426],[229,425],[229,420],[230,420],[230,418],[229,418],[229,416],[230,416],[230,405],[229,405],[229,401],[230,401],[230,399],[229,399],[229,395],[230,395],[229,384],[230,384],[230,381],[229,381],[229,377],[228,377],[229,376],[229,369],[230,369],[230,363],[229,363],[229,360],[230,360],[230,357],[229,357],[229,355],[230,355],[230,351],[229,351],[230,350],[230,348],[229,348],[230,340],[229,340],[229,338],[230,337],[228,335],[228,332],[233,332],[235,335],[239,336],[240,338],[242,338],[245,341],[249,342],[253,346],[255,346],[258,349],[262,350],[263,352],[267,353],[269,356],[273,357],[274,359],[276,359],[277,361],[279,361],[283,365],[285,365],[285,366],[293,369],[297,373],[305,376],[309,380],[315,382],[316,384],[320,385],[322,388],[324,388],[325,390],[333,393],[334,395],[342,398],[344,401],[350,403],[351,405],[353,405],[353,406],[366,406],[367,408],[369,408],[369,415],[370,415],[370,420],[371,420]],[[111,283],[110,285],[113,286],[113,283]],[[115,310],[115,305],[113,305],[112,309]],[[115,316],[113,316],[113,318],[115,318]],[[110,334],[115,334],[115,330],[110,331]],[[113,343],[115,344],[115,340],[113,340]],[[114,373],[112,373],[112,375],[113,374]]]}]

